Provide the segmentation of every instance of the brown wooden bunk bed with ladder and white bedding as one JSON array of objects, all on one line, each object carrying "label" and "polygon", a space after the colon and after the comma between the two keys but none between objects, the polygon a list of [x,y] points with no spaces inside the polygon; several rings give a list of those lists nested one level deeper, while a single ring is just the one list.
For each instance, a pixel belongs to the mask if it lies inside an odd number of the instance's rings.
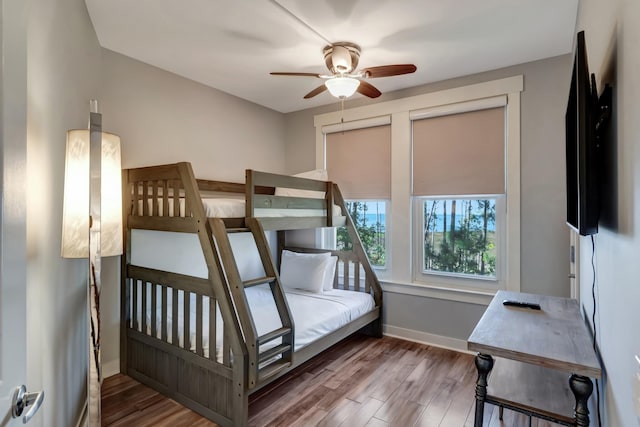
[{"label": "brown wooden bunk bed with ladder and white bedding", "polygon": [[[347,336],[382,335],[380,284],[334,183],[253,170],[244,183],[199,180],[176,163],[124,170],[123,201],[121,372],[217,424],[246,425],[251,393]],[[287,230],[338,226],[352,250],[287,246]],[[234,253],[240,236],[258,273]],[[283,286],[316,258],[319,291]]]}]

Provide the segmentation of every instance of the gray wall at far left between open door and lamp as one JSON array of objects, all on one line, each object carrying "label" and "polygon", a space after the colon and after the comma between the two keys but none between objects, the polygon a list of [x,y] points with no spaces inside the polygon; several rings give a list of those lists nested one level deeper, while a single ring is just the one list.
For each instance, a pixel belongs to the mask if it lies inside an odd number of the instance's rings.
[{"label": "gray wall at far left between open door and lamp", "polygon": [[101,49],[82,0],[28,10],[27,385],[46,392],[30,425],[66,427],[86,397],[88,268],[60,257],[65,132],[87,127]]}]

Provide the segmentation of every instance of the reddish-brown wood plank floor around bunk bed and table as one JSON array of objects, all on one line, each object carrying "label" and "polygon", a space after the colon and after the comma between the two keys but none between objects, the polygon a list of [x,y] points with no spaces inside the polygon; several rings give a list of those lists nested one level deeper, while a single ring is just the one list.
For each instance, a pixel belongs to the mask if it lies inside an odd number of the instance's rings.
[{"label": "reddish-brown wood plank floor around bunk bed and table", "polygon": [[[254,393],[250,426],[473,426],[473,356],[384,337],[353,336]],[[104,426],[215,426],[135,380],[102,387]],[[528,417],[486,405],[487,427],[528,426]],[[532,427],[555,424],[533,419]]]}]

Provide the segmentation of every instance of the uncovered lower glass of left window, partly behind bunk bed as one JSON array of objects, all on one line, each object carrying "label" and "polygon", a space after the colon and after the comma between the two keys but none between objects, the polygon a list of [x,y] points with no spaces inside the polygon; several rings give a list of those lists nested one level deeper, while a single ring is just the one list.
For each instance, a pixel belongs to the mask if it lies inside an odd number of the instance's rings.
[{"label": "uncovered lower glass of left window, partly behind bunk bed", "polygon": [[[384,267],[387,253],[387,202],[379,200],[346,201],[347,210],[358,230],[360,241],[373,267]],[[337,249],[353,249],[346,227],[337,231]]]}]

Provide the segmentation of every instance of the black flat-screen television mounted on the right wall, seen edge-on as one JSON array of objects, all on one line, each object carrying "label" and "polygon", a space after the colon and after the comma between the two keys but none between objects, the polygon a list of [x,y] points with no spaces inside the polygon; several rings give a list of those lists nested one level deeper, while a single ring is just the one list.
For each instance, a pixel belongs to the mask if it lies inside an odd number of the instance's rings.
[{"label": "black flat-screen television mounted on the right wall, seen edge-on", "polygon": [[598,129],[608,119],[610,110],[611,88],[607,85],[598,98],[581,31],[577,34],[565,131],[567,224],[582,236],[598,232],[602,167]]}]

